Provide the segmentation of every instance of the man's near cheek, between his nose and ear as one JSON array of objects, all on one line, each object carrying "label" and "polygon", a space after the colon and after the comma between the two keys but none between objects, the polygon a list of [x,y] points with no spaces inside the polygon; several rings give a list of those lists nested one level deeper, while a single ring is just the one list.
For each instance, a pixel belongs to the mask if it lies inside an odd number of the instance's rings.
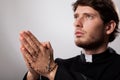
[{"label": "man's near cheek, between his nose and ear", "polygon": [[101,19],[94,19],[84,22],[83,29],[88,38],[99,37],[104,34],[104,24]]}]

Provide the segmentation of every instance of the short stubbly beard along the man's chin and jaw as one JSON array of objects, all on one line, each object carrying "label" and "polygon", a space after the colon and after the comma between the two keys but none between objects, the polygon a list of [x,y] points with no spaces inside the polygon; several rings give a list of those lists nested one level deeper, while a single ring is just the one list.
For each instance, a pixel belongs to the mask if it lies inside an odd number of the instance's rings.
[{"label": "short stubbly beard along the man's chin and jaw", "polygon": [[106,37],[104,34],[101,34],[99,36],[89,36],[88,38],[85,37],[76,37],[75,38],[75,44],[78,47],[87,49],[87,50],[93,50],[97,49],[106,42]]}]

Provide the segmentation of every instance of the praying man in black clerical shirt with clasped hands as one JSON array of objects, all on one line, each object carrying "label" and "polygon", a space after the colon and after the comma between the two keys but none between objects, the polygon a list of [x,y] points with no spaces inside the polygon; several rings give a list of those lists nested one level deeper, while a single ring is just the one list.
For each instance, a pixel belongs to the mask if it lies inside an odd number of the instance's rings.
[{"label": "praying man in black clerical shirt with clasped hands", "polygon": [[119,17],[111,0],[77,0],[73,4],[75,44],[83,50],[69,59],[53,59],[49,42],[30,31],[20,33],[28,67],[24,80],[120,80],[120,55],[108,47],[118,33]]}]

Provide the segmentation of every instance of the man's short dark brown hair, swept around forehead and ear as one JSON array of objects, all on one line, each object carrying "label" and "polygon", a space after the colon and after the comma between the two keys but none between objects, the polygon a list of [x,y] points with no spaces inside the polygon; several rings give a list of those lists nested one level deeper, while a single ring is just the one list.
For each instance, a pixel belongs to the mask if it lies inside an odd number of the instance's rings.
[{"label": "man's short dark brown hair, swept around forehead and ear", "polygon": [[109,42],[112,42],[117,34],[119,33],[119,16],[115,9],[115,5],[112,0],[77,0],[73,3],[73,11],[76,10],[78,6],[90,6],[99,12],[101,19],[104,24],[109,23],[111,20],[116,22],[115,30],[109,36]]}]

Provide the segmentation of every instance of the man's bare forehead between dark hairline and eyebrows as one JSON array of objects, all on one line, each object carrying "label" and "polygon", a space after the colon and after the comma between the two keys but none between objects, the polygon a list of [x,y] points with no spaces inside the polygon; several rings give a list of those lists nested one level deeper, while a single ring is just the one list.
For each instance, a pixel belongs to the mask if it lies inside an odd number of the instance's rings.
[{"label": "man's bare forehead between dark hairline and eyebrows", "polygon": [[92,13],[99,15],[98,11],[89,6],[78,6],[74,13]]}]

